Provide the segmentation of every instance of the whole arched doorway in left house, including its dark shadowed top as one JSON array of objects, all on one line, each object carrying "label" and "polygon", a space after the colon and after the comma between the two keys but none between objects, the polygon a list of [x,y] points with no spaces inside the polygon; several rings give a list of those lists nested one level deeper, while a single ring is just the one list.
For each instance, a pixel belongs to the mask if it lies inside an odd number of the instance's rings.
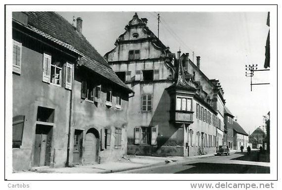
[{"label": "whole arched doorway in left house, including its dark shadowed top", "polygon": [[84,162],[96,162],[99,154],[99,132],[91,128],[87,131],[84,145]]}]

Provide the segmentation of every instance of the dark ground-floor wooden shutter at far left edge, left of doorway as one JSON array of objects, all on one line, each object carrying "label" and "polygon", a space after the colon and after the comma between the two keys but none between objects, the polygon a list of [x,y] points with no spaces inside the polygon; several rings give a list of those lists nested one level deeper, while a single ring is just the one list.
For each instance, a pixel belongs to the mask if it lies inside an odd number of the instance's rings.
[{"label": "dark ground-floor wooden shutter at far left edge, left of doorway", "polygon": [[24,129],[24,115],[17,115],[13,117],[13,148],[19,148],[22,145],[23,129]]}]

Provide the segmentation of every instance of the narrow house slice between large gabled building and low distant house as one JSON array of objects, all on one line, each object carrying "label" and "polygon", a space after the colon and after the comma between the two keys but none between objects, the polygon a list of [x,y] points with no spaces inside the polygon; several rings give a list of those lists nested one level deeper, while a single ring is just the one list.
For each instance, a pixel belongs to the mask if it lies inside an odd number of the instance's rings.
[{"label": "narrow house slice between large gabled building and low distant house", "polygon": [[223,144],[228,145],[228,147],[232,150],[234,148],[233,142],[233,118],[234,115],[231,111],[224,106],[224,137],[223,137]]}]

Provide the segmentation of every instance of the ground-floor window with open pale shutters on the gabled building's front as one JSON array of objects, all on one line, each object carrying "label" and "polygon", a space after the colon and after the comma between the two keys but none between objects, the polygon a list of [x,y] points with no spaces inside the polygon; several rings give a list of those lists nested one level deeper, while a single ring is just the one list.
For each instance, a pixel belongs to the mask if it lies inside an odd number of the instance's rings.
[{"label": "ground-floor window with open pale shutters on the gabled building's front", "polygon": [[156,145],[157,144],[157,128],[156,127],[136,127],[135,144]]}]

